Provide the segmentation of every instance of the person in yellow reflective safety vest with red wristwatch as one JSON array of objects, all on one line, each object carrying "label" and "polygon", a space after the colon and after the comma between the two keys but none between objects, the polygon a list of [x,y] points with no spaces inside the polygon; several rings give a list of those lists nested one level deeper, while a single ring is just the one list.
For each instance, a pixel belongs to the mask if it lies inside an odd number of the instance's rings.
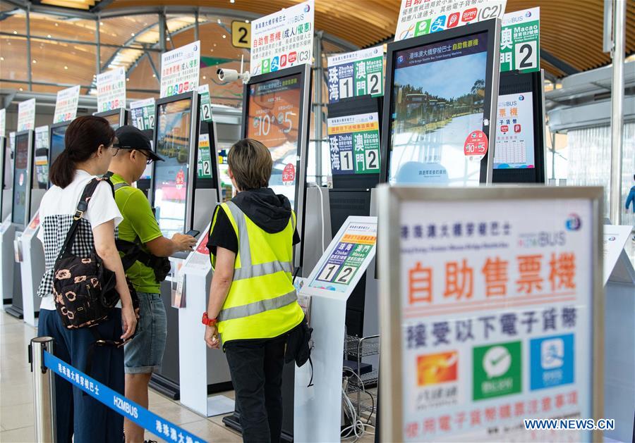
[{"label": "person in yellow reflective safety vest with red wristwatch", "polygon": [[243,139],[231,146],[227,163],[238,194],[212,216],[205,342],[218,348],[222,338],[243,441],[279,442],[287,338],[304,320],[293,285],[296,215],[289,199],[268,187],[267,146]]}]

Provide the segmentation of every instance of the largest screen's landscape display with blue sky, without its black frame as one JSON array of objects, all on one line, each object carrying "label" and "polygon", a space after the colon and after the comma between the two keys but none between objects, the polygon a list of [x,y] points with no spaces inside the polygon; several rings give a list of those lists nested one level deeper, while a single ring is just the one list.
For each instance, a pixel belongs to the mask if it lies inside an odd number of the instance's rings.
[{"label": "largest screen's landscape display with blue sky, without its black frame", "polygon": [[483,130],[488,33],[397,51],[390,110],[391,184],[476,185],[480,162],[464,153]]}]

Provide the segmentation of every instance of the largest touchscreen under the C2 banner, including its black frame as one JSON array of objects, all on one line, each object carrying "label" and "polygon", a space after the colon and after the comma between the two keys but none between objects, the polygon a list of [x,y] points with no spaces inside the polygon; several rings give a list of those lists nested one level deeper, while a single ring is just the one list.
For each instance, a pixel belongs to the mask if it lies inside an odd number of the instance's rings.
[{"label": "largest touchscreen under the C2 banner, including its black frame", "polygon": [[[487,20],[388,45],[382,181],[468,186],[492,181],[500,20]],[[466,140],[483,131],[481,161]]]}]

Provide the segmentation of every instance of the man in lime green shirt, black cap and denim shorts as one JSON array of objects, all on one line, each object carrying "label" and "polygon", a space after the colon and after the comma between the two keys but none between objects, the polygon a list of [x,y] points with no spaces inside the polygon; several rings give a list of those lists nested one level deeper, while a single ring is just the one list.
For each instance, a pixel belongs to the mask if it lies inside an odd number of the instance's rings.
[{"label": "man in lime green shirt, black cap and denim shorts", "polygon": [[[126,268],[126,277],[139,297],[137,334],[124,347],[126,397],[147,408],[147,385],[152,371],[161,367],[167,335],[161,282],[155,270],[167,265],[162,257],[169,257],[177,251],[191,251],[196,239],[183,234],[175,234],[171,239],[163,237],[150,202],[140,189],[132,186],[147,165],[152,161],[163,161],[153,151],[150,139],[129,125],[119,127],[116,136],[119,139],[118,150],[109,170],[115,201],[123,216],[117,228],[117,247]],[[123,244],[126,247],[122,247]],[[130,420],[124,421],[123,428],[127,443],[144,442],[143,428]]]}]

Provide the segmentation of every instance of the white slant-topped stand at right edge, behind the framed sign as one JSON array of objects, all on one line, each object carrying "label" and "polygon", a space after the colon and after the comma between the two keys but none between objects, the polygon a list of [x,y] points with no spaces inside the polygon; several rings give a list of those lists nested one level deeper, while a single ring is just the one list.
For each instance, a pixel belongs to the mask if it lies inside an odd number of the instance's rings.
[{"label": "white slant-topped stand at right edge, behind the framed sign", "polygon": [[620,442],[633,438],[635,410],[635,270],[624,251],[632,230],[604,225],[604,416],[615,419],[604,435]]}]

